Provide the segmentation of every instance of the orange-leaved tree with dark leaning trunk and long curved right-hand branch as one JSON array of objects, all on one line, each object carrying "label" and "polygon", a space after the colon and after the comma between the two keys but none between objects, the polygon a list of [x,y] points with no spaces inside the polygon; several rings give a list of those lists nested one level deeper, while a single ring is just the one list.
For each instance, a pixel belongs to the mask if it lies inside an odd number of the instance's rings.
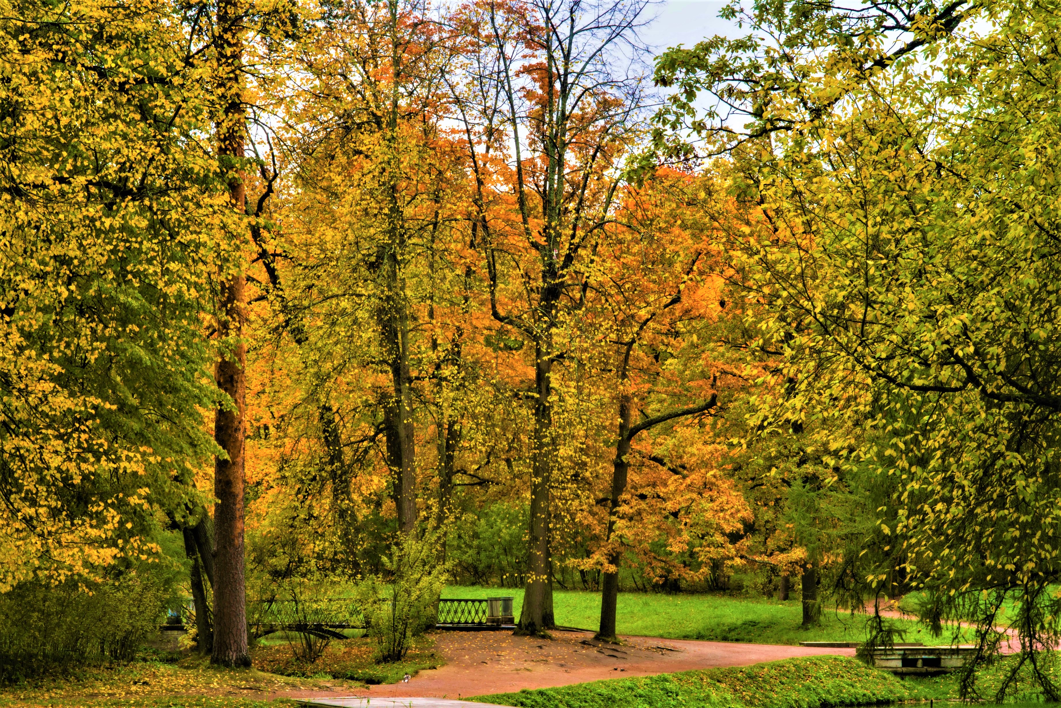
[{"label": "orange-leaved tree with dark leaning trunk and long curved right-hand branch", "polygon": [[[598,265],[590,286],[594,294],[590,309],[601,311],[603,335],[611,350],[604,385],[614,387],[618,399],[611,484],[604,499],[608,520],[596,553],[603,567],[597,638],[606,641],[616,641],[622,559],[631,553],[644,563],[645,541],[658,537],[651,530],[665,524],[664,518],[672,517],[684,527],[678,532],[681,534],[693,532],[703,520],[697,520],[701,514],[714,516],[727,533],[738,532],[748,517],[735,489],[703,477],[713,477],[723,466],[717,452],[710,454],[697,446],[707,459],[705,464],[690,465],[691,456],[680,449],[684,445],[666,452],[665,436],[634,448],[640,433],[645,433],[644,438],[660,426],[685,425],[691,417],[717,415],[733,390],[744,388],[736,373],[740,364],[726,361],[718,335],[711,333],[711,326],[727,316],[716,243],[719,227],[712,223],[712,212],[725,212],[730,200],[710,176],[666,170],[641,188],[626,188],[623,197],[615,223],[597,248]],[[703,209],[708,200],[721,202],[723,209]],[[700,435],[710,443],[716,432],[708,426]],[[683,439],[684,444],[692,442],[688,436]],[[641,472],[631,497],[627,491],[631,463],[663,471],[662,483],[653,489],[649,479],[654,475]],[[676,484],[676,478],[682,483]],[[686,495],[697,489],[698,480],[707,483],[695,493],[700,499],[690,505]],[[654,481],[659,482],[659,477]],[[657,502],[655,513],[644,513]],[[650,519],[654,515],[661,518]],[[706,528],[699,531],[701,538],[710,537]],[[668,547],[682,543],[676,535]],[[698,555],[709,572],[712,561],[732,559],[735,553],[726,541],[720,546],[700,545]]]}]

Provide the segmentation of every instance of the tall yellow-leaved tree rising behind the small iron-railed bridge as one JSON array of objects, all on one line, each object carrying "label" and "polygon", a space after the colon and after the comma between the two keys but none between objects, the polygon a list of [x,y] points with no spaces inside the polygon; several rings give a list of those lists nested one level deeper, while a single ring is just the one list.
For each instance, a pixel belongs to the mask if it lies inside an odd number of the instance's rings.
[{"label": "tall yellow-leaved tree rising behind the small iron-railed bridge", "polygon": [[[277,330],[299,350],[298,385],[314,402],[307,418],[274,423],[323,443],[307,471],[340,516],[368,492],[352,476],[376,475],[380,460],[406,533],[419,516],[417,443],[446,397],[442,370],[460,359],[459,325],[435,326],[462,301],[449,223],[463,180],[440,127],[450,50],[439,33],[424,4],[352,2],[320,19],[295,57],[281,136],[294,176],[278,214],[283,258],[263,255]],[[356,544],[354,518],[336,521]]]}]

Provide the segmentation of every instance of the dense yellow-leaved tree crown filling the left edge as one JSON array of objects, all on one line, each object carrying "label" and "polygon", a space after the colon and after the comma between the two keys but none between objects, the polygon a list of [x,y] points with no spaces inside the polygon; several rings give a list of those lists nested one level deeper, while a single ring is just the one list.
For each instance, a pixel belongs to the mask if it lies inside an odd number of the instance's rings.
[{"label": "dense yellow-leaved tree crown filling the left edge", "polygon": [[159,518],[205,501],[192,480],[218,396],[201,315],[233,249],[193,14],[72,3],[0,21],[0,589],[157,553]]}]

